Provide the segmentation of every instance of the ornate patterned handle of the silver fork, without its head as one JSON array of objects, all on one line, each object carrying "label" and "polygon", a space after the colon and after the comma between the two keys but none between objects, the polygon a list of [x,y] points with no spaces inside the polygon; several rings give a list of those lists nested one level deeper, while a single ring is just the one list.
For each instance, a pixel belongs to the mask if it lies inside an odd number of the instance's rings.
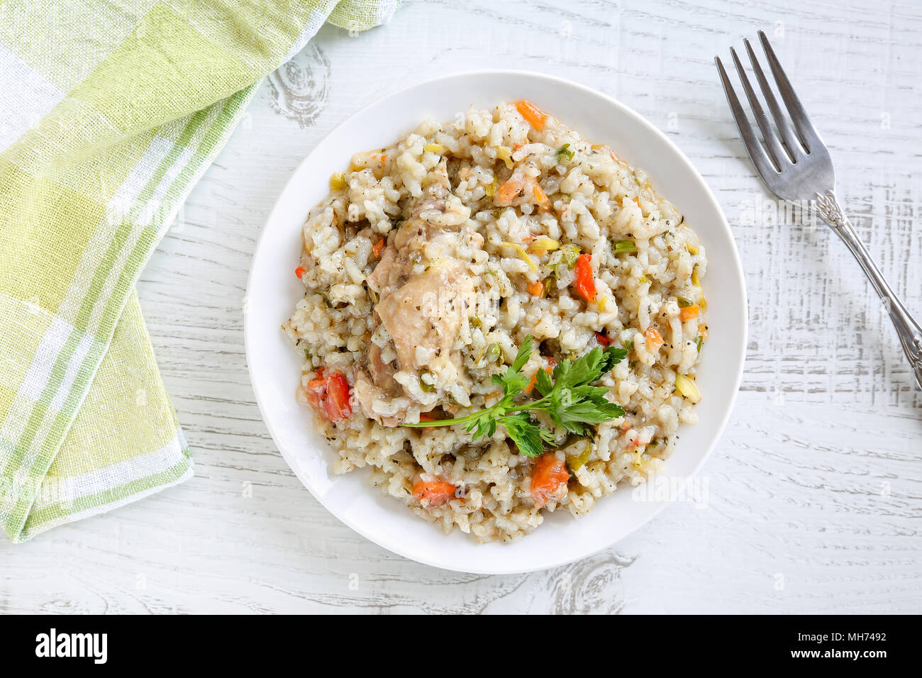
[{"label": "ornate patterned handle of the silver fork, without its head", "polygon": [[896,296],[896,293],[881,274],[881,270],[877,268],[873,259],[870,258],[868,248],[858,238],[855,227],[845,217],[845,212],[839,206],[835,191],[817,194],[815,206],[822,220],[833,228],[833,231],[836,232],[842,242],[845,243],[845,246],[855,256],[865,275],[868,276],[870,284],[881,296],[881,301],[890,312],[890,319],[893,321],[893,326],[896,327],[896,334],[903,345],[906,358],[909,359],[909,366],[912,368],[913,374],[916,375],[916,383],[919,388],[922,388],[922,327],[906,310],[904,303]]}]

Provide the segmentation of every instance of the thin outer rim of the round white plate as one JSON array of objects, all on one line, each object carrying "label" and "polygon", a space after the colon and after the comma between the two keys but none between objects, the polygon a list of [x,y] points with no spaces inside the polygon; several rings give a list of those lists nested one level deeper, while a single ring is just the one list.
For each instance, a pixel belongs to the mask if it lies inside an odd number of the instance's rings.
[{"label": "thin outer rim of the round white plate", "polygon": [[[503,68],[479,69],[479,68],[475,68],[475,69],[453,71],[451,73],[443,74],[441,76],[421,79],[419,81],[412,82],[402,88],[396,89],[393,92],[390,92],[389,94],[384,94],[384,96],[376,97],[372,101],[369,101],[368,103],[362,105],[360,108],[356,109],[353,113],[350,113],[338,125],[335,125],[334,127],[332,127],[328,132],[325,133],[323,137],[319,138],[313,144],[313,148],[310,149],[307,155],[305,155],[301,159],[300,162],[298,162],[297,166],[290,172],[290,176],[288,180],[282,186],[281,190],[278,191],[278,194],[276,195],[276,198],[275,198],[275,202],[272,208],[269,210],[269,213],[266,216],[266,220],[263,222],[262,229],[259,232],[259,236],[256,239],[256,244],[253,250],[253,256],[250,260],[250,269],[247,273],[246,289],[244,291],[246,298],[249,298],[250,290],[253,288],[253,285],[254,285],[254,270],[255,270],[254,264],[256,260],[259,258],[262,249],[266,246],[266,240],[268,238],[267,234],[271,230],[270,229],[271,224],[273,223],[273,221],[277,219],[277,212],[280,209],[280,204],[282,202],[282,196],[285,196],[289,192],[290,187],[295,181],[295,177],[301,172],[301,168],[306,163],[308,163],[309,161],[313,159],[313,155],[316,152],[317,148],[321,146],[321,144],[325,141],[327,137],[333,136],[339,129],[349,125],[353,119],[359,117],[362,113],[372,108],[372,106],[377,106],[379,104],[384,103],[384,101],[390,101],[390,100],[405,96],[408,93],[408,91],[412,89],[430,86],[435,83],[441,82],[443,80],[450,80],[450,79],[458,78],[458,77],[480,77],[480,76],[510,77],[510,78],[521,77],[521,76],[537,77],[537,78],[540,78],[540,79],[543,79],[549,82],[553,82],[558,85],[581,89],[588,95],[602,98],[607,103],[609,103],[609,105],[617,109],[620,109],[621,113],[626,114],[627,116],[631,117],[636,123],[644,126],[648,132],[654,134],[656,137],[659,137],[661,141],[665,141],[669,149],[671,149],[674,155],[678,159],[680,159],[680,161],[685,165],[685,169],[691,171],[691,174],[703,186],[704,198],[708,202],[710,202],[711,207],[714,208],[715,210],[715,213],[719,215],[720,217],[719,226],[724,231],[724,234],[727,237],[728,242],[731,244],[731,252],[732,252],[731,260],[722,261],[721,264],[722,266],[726,266],[727,268],[730,268],[730,271],[733,274],[733,276],[737,280],[739,280],[738,289],[741,293],[742,313],[739,314],[739,327],[737,327],[737,329],[739,330],[740,336],[741,336],[740,344],[742,346],[742,351],[740,351],[739,362],[733,366],[735,375],[733,378],[732,394],[727,404],[726,411],[724,411],[720,421],[715,426],[715,435],[711,439],[711,442],[707,446],[707,449],[704,451],[702,457],[698,460],[698,463],[694,465],[694,467],[691,469],[690,472],[682,476],[682,478],[684,480],[689,480],[697,476],[699,471],[703,467],[704,463],[714,453],[715,447],[717,446],[717,443],[720,441],[724,432],[726,431],[727,423],[729,422],[730,417],[733,414],[733,411],[736,409],[737,399],[739,397],[739,387],[742,384],[742,377],[743,377],[744,367],[746,363],[747,346],[749,343],[749,293],[746,288],[746,277],[745,277],[745,274],[742,268],[742,260],[739,256],[739,247],[737,246],[736,238],[733,237],[733,232],[730,229],[730,224],[729,224],[729,221],[727,220],[727,215],[724,213],[723,208],[721,208],[720,203],[714,194],[714,191],[711,189],[711,186],[707,184],[707,182],[704,180],[703,174],[698,171],[697,167],[694,166],[694,164],[691,162],[688,156],[685,155],[682,149],[680,149],[679,146],[672,139],[670,139],[668,135],[666,135],[662,130],[660,130],[656,125],[651,123],[640,113],[637,113],[636,111],[634,111],[627,104],[624,104],[621,101],[618,101],[617,99],[610,96],[609,94],[606,94],[605,92],[589,87],[588,85],[585,85],[581,82],[577,82],[567,77],[550,76],[544,73],[539,73],[537,71],[530,71],[530,70],[523,70],[523,69],[503,69]],[[306,215],[305,215],[305,218],[306,218]],[[336,511],[331,509],[330,506],[327,506],[324,496],[323,495],[318,496],[318,494],[313,491],[313,488],[307,482],[304,482],[304,480],[301,478],[301,473],[297,470],[297,464],[294,462],[292,458],[290,458],[290,454],[284,449],[284,447],[278,444],[279,436],[274,430],[274,426],[270,422],[270,419],[266,417],[266,409],[264,407],[264,402],[266,402],[266,398],[260,397],[260,391],[261,391],[260,383],[261,382],[260,380],[256,379],[253,374],[253,361],[251,360],[251,351],[253,351],[254,344],[253,344],[253,339],[251,337],[254,332],[254,329],[251,329],[251,321],[249,320],[249,317],[250,315],[243,313],[243,344],[244,344],[244,356],[245,356],[246,363],[247,363],[247,375],[250,379],[250,386],[253,388],[254,398],[256,400],[256,406],[259,410],[260,418],[262,419],[263,423],[266,425],[266,429],[268,430],[269,435],[272,437],[272,442],[275,444],[276,448],[278,449],[278,452],[281,454],[282,458],[284,458],[285,463],[288,464],[289,469],[298,479],[298,482],[301,482],[301,485],[303,485],[304,488],[306,488],[308,492],[310,492],[313,495],[313,498],[316,499],[320,503],[320,505],[323,506],[330,515],[332,515],[333,517],[336,517],[341,523],[349,527],[349,529],[352,529],[353,531],[355,531],[357,534],[361,535],[363,538],[367,539],[368,541],[372,541],[372,543],[377,544],[381,548],[391,553],[396,553],[397,555],[400,555],[416,563],[421,563],[422,565],[428,565],[428,566],[435,567],[438,569],[443,569],[443,570],[448,570],[448,571],[453,571],[453,572],[463,572],[463,573],[469,573],[469,574],[482,574],[482,575],[509,575],[509,574],[525,574],[529,572],[538,572],[538,571],[543,571],[543,570],[549,570],[554,567],[560,567],[561,565],[570,565],[572,563],[585,560],[586,558],[589,558],[597,553],[604,551],[605,549],[608,549],[614,546],[619,541],[626,539],[627,537],[638,532],[641,528],[644,527],[644,525],[650,522],[650,520],[658,516],[663,511],[663,509],[666,508],[666,506],[668,506],[669,504],[669,502],[658,503],[655,509],[651,511],[647,517],[644,517],[643,520],[640,520],[639,522],[637,522],[636,525],[634,525],[630,531],[628,531],[625,534],[622,534],[620,537],[617,537],[612,541],[606,541],[605,543],[600,543],[597,546],[597,548],[591,551],[588,551],[585,553],[579,553],[574,557],[563,556],[560,559],[554,560],[554,562],[552,563],[542,563],[534,567],[526,567],[526,568],[515,567],[514,569],[502,569],[502,568],[497,569],[497,568],[490,568],[490,567],[472,568],[470,565],[455,567],[452,565],[446,565],[441,562],[440,563],[431,562],[429,559],[420,557],[419,555],[415,553],[409,553],[407,550],[399,546],[395,546],[389,543],[384,543],[383,541],[380,541],[374,535],[374,533],[371,532],[370,530],[362,529],[359,524],[355,523],[352,520],[347,519],[346,517],[339,515]],[[434,529],[434,526],[432,527]],[[438,531],[436,531],[435,534],[439,536],[444,536],[441,534],[441,532],[438,532]],[[525,535],[525,537],[527,536],[528,535]],[[514,547],[514,543],[507,544],[507,545],[510,548]]]}]

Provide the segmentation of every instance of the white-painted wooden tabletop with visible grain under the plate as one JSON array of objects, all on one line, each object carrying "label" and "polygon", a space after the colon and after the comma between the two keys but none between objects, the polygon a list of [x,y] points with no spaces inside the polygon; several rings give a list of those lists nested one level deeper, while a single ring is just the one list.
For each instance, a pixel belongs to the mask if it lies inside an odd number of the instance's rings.
[{"label": "white-painted wooden tabletop with visible grain under the plate", "polygon": [[[846,208],[922,314],[922,8],[460,5],[408,2],[355,37],[325,28],[269,77],[139,285],[195,478],[0,543],[0,612],[922,612],[922,394],[845,247],[774,220],[712,61],[768,31]],[[573,78],[667,131],[726,210],[750,294],[742,391],[703,469],[708,506],[669,506],[596,557],[506,577],[409,562],[329,515],[266,433],[243,355],[254,243],[301,158],[366,102],[480,67]]]}]

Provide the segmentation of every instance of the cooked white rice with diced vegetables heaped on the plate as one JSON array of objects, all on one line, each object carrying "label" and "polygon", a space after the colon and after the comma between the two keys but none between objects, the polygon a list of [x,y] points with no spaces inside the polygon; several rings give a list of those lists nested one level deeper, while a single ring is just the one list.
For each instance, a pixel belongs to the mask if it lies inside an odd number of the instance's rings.
[{"label": "cooked white rice with diced vegetables heaped on the plate", "polygon": [[[697,421],[693,379],[707,328],[703,315],[690,311],[706,305],[698,284],[703,245],[644,172],[550,115],[537,126],[514,103],[502,103],[492,112],[471,109],[451,124],[426,120],[394,146],[355,156],[304,224],[298,270],[304,298],[283,326],[306,356],[301,402],[318,368],[349,382],[351,416],[336,423],[316,417],[337,452],[337,473],[370,467],[384,493],[445,532],[457,526],[478,541],[514,541],[541,524],[543,511],[561,506],[585,514],[620,482],[637,484],[659,470],[680,423]],[[445,172],[450,195],[443,205],[414,216],[427,185]],[[516,185],[507,184],[511,179],[523,189],[503,199],[504,186]],[[529,190],[535,183],[546,198]],[[497,205],[503,202],[511,204]],[[400,222],[411,219],[451,234],[447,254],[444,247],[421,250],[417,272],[449,256],[465,279],[462,321],[439,335],[452,358],[420,342],[413,360],[427,365],[421,371],[402,369],[406,361],[376,314],[377,294],[367,280],[381,261],[374,245],[384,238],[394,247]],[[619,241],[633,241],[636,251],[616,253]],[[573,269],[561,252],[568,244],[592,256],[594,303],[573,288]],[[535,293],[539,281],[546,287]],[[447,327],[437,310],[420,313]],[[571,478],[541,507],[531,493],[534,459],[518,453],[502,426],[472,442],[461,426],[381,423],[489,406],[497,390],[491,375],[512,363],[526,335],[539,347],[523,369],[527,375],[548,358],[559,363],[583,355],[600,339],[629,349],[599,382],[625,415],[597,425],[594,439],[551,452],[566,459]],[[354,389],[370,369],[372,345],[402,392],[363,404]],[[420,478],[451,483],[456,492],[440,506],[423,506],[413,494]]]}]

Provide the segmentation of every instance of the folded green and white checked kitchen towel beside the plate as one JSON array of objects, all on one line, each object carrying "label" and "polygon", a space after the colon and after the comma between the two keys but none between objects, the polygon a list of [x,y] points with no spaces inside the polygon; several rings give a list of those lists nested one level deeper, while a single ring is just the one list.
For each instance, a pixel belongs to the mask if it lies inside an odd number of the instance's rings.
[{"label": "folded green and white checked kitchen towel beside the plate", "polygon": [[365,30],[396,4],[0,5],[0,525],[10,539],[192,475],[137,277],[259,80],[326,20]]}]

